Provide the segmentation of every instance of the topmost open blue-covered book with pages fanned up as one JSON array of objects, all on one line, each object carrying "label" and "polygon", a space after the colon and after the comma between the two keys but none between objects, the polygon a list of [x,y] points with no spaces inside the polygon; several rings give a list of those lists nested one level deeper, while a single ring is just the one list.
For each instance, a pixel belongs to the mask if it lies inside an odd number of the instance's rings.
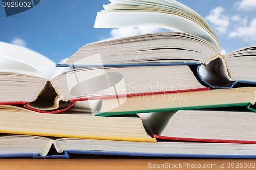
[{"label": "topmost open blue-covered book with pages fanned up", "polygon": [[106,66],[199,63],[207,66],[211,79],[206,82],[212,86],[230,88],[238,81],[256,82],[256,46],[222,56],[214,31],[189,7],[175,0],[110,2],[104,5],[105,10],[98,12],[95,27],[163,27],[178,32],[153,33],[88,44],[63,63],[64,66],[83,65],[79,60],[97,51]]}]

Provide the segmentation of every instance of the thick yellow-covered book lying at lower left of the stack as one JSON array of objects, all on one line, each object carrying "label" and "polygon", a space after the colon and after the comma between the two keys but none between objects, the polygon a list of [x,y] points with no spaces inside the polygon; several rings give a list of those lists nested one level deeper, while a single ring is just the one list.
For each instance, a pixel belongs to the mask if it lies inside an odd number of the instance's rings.
[{"label": "thick yellow-covered book lying at lower left of the stack", "polygon": [[136,115],[98,117],[69,110],[48,114],[12,105],[0,105],[0,133],[156,142]]}]

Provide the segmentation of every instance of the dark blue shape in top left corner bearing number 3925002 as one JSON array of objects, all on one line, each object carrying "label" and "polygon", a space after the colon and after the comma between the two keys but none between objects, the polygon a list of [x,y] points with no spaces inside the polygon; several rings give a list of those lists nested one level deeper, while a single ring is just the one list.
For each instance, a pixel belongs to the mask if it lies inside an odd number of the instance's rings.
[{"label": "dark blue shape in top left corner bearing number 3925002", "polygon": [[16,15],[35,7],[40,0],[2,0],[6,16]]}]

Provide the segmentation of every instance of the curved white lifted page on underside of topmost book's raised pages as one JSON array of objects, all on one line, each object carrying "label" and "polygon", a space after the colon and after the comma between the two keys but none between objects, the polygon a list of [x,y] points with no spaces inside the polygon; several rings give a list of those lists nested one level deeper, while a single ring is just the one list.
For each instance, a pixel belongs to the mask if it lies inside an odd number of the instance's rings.
[{"label": "curved white lifted page on underside of topmost book's raised pages", "polygon": [[221,53],[218,42],[197,23],[181,16],[158,12],[98,12],[95,28],[161,27],[201,37]]}]

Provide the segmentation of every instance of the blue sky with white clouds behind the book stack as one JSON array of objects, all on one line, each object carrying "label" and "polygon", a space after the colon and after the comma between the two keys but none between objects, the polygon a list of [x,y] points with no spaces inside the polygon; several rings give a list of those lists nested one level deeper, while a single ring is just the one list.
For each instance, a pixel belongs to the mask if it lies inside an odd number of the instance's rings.
[{"label": "blue sky with white clouds behind the book stack", "polygon": [[[256,0],[180,0],[203,18],[217,34],[223,53],[256,45]],[[25,12],[6,17],[0,6],[0,41],[25,46],[55,63],[87,43],[166,31],[157,28],[93,28],[98,11],[108,0],[41,0]]]}]

